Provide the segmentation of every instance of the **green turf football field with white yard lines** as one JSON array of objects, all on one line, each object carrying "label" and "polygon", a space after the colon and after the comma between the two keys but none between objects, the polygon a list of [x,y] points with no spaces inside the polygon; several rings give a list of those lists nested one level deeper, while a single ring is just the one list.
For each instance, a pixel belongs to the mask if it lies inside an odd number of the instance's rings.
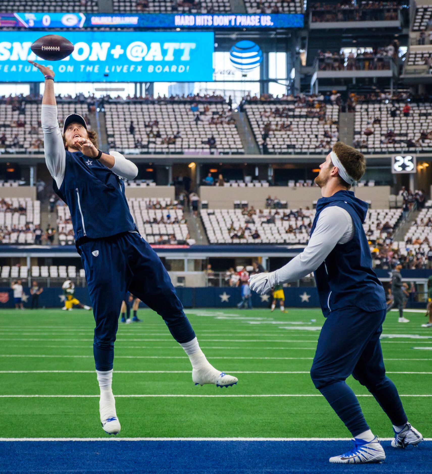
[{"label": "green turf football field with white yard lines", "polygon": [[[309,369],[319,310],[186,310],[200,345],[219,370],[238,376],[228,389],[194,386],[183,349],[162,319],[120,325],[113,392],[122,438],[345,438],[349,433],[315,390]],[[382,346],[389,377],[409,421],[432,437],[432,330],[387,315]],[[91,312],[0,311],[2,438],[105,437],[92,354]],[[392,427],[377,402],[349,379],[374,433]]]}]

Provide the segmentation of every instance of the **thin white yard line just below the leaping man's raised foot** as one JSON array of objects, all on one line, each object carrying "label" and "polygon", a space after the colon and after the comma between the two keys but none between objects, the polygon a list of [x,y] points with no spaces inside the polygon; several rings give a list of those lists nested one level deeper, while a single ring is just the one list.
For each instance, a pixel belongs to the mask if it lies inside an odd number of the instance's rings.
[{"label": "thin white yard line just below the leaping man's raised foot", "polygon": [[[432,397],[428,395],[401,395],[400,397]],[[273,398],[273,397],[322,397],[321,393],[272,393],[272,394],[243,394],[243,395],[183,395],[183,394],[153,394],[116,395],[116,398]],[[356,395],[356,397],[373,397],[370,394]],[[100,398],[100,395],[0,395],[0,398]]]}]

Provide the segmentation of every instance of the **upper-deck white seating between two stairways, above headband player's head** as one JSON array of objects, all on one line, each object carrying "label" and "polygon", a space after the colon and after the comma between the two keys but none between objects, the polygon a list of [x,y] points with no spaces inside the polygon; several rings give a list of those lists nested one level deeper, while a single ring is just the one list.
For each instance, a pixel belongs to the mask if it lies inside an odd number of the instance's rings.
[{"label": "upper-deck white seating between two stairways, above headband player's head", "polygon": [[[277,109],[287,109],[285,118],[281,117]],[[258,145],[261,146],[265,125],[270,123],[269,137],[267,138],[268,153],[316,153],[331,149],[337,142],[339,106],[322,104],[324,117],[312,116],[316,109],[296,107],[294,103],[288,105],[274,104],[247,104],[245,110],[252,126]],[[276,110],[276,115],[275,115]],[[281,129],[283,125],[291,128]],[[331,137],[325,137],[328,133]]]}]

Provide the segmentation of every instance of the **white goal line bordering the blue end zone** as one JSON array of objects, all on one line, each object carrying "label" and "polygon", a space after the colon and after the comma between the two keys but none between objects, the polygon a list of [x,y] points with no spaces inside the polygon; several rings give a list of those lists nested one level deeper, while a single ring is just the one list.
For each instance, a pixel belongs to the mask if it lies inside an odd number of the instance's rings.
[{"label": "white goal line bordering the blue end zone", "polygon": [[[0,442],[8,441],[351,441],[352,438],[0,438]],[[380,441],[392,441],[394,438],[379,438]],[[432,438],[423,438],[432,441]]]}]

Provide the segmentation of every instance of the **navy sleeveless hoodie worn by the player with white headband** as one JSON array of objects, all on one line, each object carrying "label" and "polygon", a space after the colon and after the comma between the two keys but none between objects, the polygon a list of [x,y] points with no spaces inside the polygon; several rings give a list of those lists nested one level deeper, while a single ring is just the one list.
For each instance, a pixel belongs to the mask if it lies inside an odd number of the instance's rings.
[{"label": "navy sleeveless hoodie worn by the player with white headband", "polygon": [[311,236],[323,209],[338,206],[348,211],[354,225],[354,236],[346,244],[336,244],[324,262],[315,270],[322,313],[347,307],[372,312],[386,309],[382,283],[372,270],[372,257],[363,223],[368,211],[366,202],[357,199],[353,191],[338,191],[317,202]]}]

